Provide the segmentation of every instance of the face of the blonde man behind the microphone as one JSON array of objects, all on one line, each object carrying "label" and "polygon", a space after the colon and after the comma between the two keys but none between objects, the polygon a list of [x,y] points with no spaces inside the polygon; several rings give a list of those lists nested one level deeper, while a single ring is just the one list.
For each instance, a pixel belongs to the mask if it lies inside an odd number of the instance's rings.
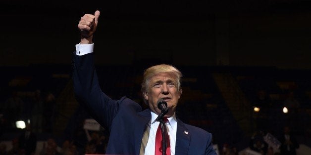
[{"label": "face of the blonde man behind the microphone", "polygon": [[170,117],[174,114],[178,99],[181,92],[177,90],[177,81],[171,73],[159,73],[151,77],[148,92],[144,93],[144,97],[148,100],[149,108],[152,112],[159,115],[161,111],[157,108],[156,102],[163,99],[169,108],[165,117]]}]

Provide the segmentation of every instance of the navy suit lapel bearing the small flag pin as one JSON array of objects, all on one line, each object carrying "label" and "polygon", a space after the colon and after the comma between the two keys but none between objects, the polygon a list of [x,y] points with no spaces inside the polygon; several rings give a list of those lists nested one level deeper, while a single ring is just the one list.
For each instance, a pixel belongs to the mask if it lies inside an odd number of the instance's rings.
[{"label": "navy suit lapel bearing the small flag pin", "polygon": [[177,119],[175,155],[187,155],[190,145],[191,133],[184,123]]}]

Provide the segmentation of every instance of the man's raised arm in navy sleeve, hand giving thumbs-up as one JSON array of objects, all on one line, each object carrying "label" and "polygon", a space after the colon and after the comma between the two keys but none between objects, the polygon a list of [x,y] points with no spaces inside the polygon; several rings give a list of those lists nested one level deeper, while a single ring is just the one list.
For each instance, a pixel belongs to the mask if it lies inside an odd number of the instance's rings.
[{"label": "man's raised arm in navy sleeve, hand giving thumbs-up", "polygon": [[[100,11],[96,11],[94,15],[85,14],[81,17],[78,24],[81,31],[81,42],[76,45],[79,49],[93,48],[91,43],[99,16]],[[77,55],[78,53],[79,55]],[[74,93],[78,102],[105,129],[110,130],[112,119],[118,111],[118,102],[104,94],[100,87],[95,70],[93,50],[87,54],[80,54],[80,51],[76,51],[73,55],[73,69]]]}]

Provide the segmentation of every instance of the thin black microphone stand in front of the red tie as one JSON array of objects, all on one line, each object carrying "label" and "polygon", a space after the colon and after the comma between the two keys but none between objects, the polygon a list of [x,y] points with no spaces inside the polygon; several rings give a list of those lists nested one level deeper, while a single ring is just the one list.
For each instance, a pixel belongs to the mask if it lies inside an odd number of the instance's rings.
[{"label": "thin black microphone stand in front of the red tie", "polygon": [[163,121],[163,116],[168,112],[168,108],[163,108],[161,110],[161,114],[156,117],[156,121],[160,122],[161,125],[161,134],[162,134],[162,155],[166,154],[166,149],[167,149],[167,141],[166,141],[166,125]]}]

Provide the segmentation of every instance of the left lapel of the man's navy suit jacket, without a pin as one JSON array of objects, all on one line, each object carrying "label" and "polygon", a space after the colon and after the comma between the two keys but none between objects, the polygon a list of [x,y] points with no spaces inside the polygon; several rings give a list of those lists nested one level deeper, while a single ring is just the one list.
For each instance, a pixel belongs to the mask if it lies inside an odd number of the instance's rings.
[{"label": "left lapel of the man's navy suit jacket, without a pin", "polygon": [[146,129],[147,123],[151,120],[150,110],[144,110],[143,112],[138,113],[137,121],[135,123],[134,130],[134,139],[135,139],[135,153],[139,155],[140,147],[142,143],[143,134]]}]

